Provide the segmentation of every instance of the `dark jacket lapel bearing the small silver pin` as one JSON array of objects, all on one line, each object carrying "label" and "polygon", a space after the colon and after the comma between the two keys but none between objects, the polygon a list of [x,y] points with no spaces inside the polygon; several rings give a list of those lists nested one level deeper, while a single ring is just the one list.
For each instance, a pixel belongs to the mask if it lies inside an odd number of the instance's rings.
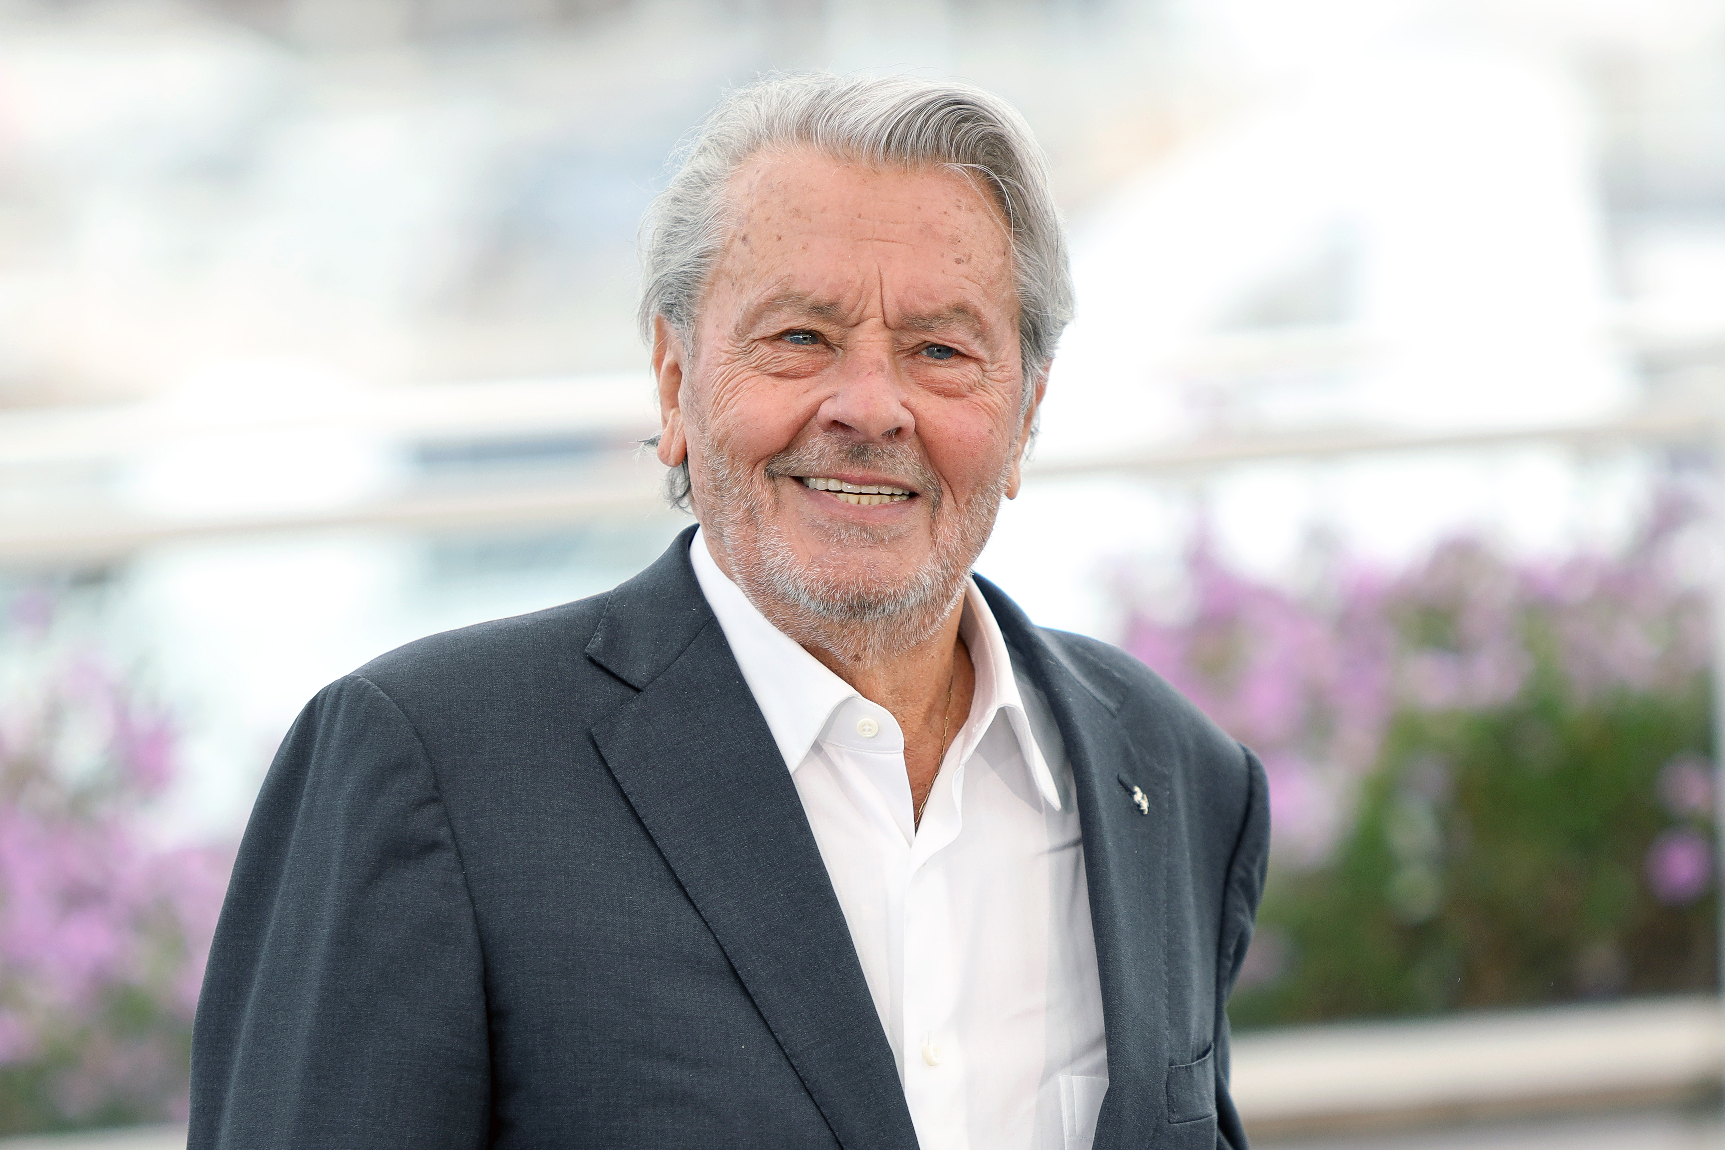
[{"label": "dark jacket lapel bearing the small silver pin", "polygon": [[[1095,931],[1107,1095],[1094,1150],[1144,1145],[1163,1124],[1168,1052],[1168,772],[1133,745],[1118,707],[1125,684],[1051,645],[1011,598],[978,578],[1013,655],[1047,695],[1078,791],[1090,924]],[[1140,814],[1130,791],[1144,791]]]}]

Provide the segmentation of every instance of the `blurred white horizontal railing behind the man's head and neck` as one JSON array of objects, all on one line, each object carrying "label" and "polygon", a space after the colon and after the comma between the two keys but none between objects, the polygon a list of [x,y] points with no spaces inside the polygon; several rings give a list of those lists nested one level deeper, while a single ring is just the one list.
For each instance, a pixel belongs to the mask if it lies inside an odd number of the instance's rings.
[{"label": "blurred white horizontal railing behind the man's head and neck", "polygon": [[[224,438],[276,433],[352,431],[392,450],[438,436],[530,436],[600,431],[623,448],[654,431],[645,381],[628,378],[440,384],[359,393],[342,403],[292,414],[176,417],[160,407],[0,416],[0,564],[52,564],[114,559],[176,540],[321,528],[450,529],[511,524],[581,522],[621,510],[661,509],[661,469],[628,450],[595,457],[578,476],[568,471],[519,474],[495,483],[383,484],[354,498],[312,507],[243,509],[217,514],[164,514],[95,490],[128,460],[147,453],[195,452]],[[1092,459],[1033,460],[1026,481],[1135,474],[1194,476],[1239,464],[1397,455],[1432,450],[1566,447],[1599,450],[1692,443],[1715,438],[1716,417],[1699,403],[1628,412],[1590,422],[1406,431],[1330,428],[1256,436],[1192,440]],[[59,481],[83,491],[53,495]],[[72,476],[72,483],[66,483]],[[105,478],[105,479],[104,479]],[[214,481],[214,476],[212,476]]]}]

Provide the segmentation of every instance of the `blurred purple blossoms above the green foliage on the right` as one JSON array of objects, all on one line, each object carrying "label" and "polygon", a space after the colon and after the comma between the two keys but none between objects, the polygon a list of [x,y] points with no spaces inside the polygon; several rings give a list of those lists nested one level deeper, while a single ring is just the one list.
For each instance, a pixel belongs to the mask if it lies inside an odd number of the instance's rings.
[{"label": "blurred purple blossoms above the green foliage on the right", "polygon": [[[1622,555],[1515,564],[1459,538],[1401,572],[1344,564],[1311,593],[1230,571],[1199,533],[1183,616],[1138,610],[1125,647],[1259,753],[1278,859],[1314,866],[1399,710],[1502,707],[1540,667],[1578,702],[1692,683],[1706,603],[1668,559],[1685,516],[1665,507]],[[1659,793],[1703,816],[1708,766],[1670,767]]]}]

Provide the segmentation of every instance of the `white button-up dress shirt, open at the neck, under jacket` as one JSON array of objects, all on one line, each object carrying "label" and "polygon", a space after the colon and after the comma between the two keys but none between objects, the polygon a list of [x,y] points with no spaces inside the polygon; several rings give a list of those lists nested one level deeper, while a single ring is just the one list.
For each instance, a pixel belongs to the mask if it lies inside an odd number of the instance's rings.
[{"label": "white button-up dress shirt, open at the neck, under jacket", "polygon": [[918,828],[892,714],[768,622],[699,531],[690,559],[802,797],[923,1150],[1090,1150],[1107,1048],[1071,766],[982,591],[959,624],[976,690]]}]

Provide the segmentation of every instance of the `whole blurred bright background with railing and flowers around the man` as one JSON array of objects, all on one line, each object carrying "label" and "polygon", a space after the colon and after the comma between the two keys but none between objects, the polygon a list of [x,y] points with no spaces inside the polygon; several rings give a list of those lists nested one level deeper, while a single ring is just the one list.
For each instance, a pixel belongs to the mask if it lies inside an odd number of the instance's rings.
[{"label": "whole blurred bright background with railing and flowers around the man", "polygon": [[1716,0],[0,0],[0,1134],[176,1145],[300,705],[687,522],[637,224],[795,67],[1049,152],[978,569],[1266,762],[1258,1141],[1725,1141]]}]

